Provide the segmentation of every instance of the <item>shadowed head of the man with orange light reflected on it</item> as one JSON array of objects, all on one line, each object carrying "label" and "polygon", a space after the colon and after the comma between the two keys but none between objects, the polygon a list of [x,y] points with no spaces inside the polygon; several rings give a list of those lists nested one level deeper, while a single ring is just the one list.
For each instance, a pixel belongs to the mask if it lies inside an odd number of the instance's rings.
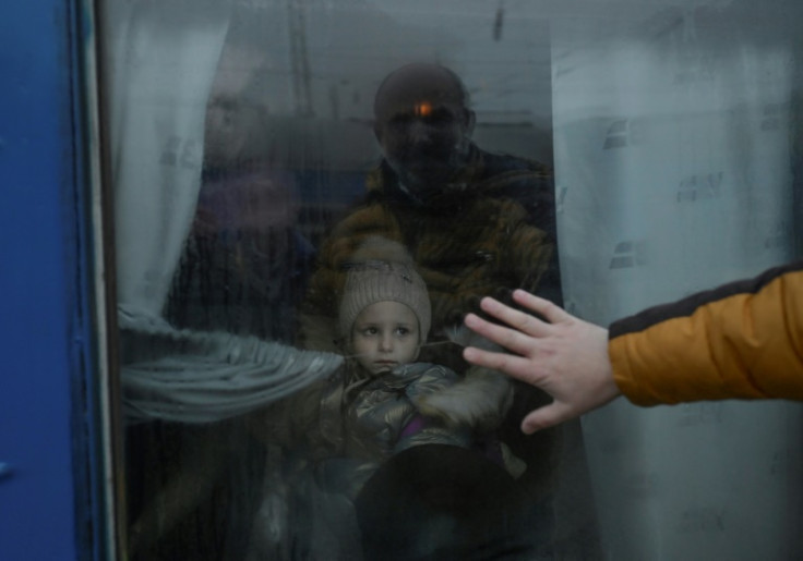
[{"label": "shadowed head of the man with orange light reflected on it", "polygon": [[392,72],[374,99],[374,133],[406,188],[432,192],[465,167],[474,112],[460,78],[438,64]]}]

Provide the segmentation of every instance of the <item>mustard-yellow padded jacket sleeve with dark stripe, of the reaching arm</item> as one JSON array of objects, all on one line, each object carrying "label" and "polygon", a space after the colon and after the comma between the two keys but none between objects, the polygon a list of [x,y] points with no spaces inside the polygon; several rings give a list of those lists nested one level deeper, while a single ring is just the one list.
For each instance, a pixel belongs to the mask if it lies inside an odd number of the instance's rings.
[{"label": "mustard-yellow padded jacket sleeve with dark stripe, of the reaching arm", "polygon": [[803,263],[611,325],[609,356],[638,405],[803,400]]}]

